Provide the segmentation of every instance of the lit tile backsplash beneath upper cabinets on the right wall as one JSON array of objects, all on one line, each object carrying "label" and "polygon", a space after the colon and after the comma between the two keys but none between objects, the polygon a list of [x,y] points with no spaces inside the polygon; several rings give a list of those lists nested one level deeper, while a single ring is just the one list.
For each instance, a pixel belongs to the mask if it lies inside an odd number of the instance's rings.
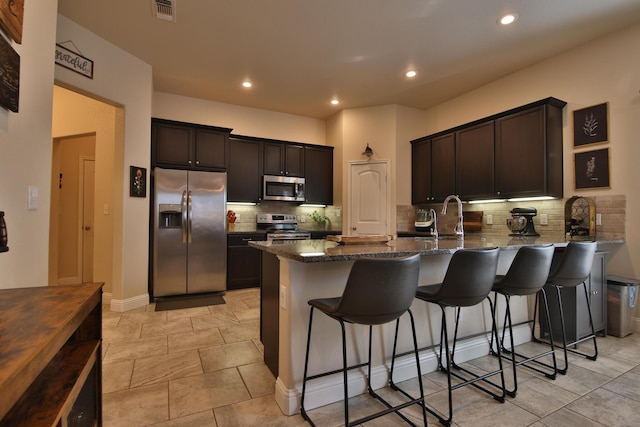
[{"label": "lit tile backsplash beneath upper cabinets on the right wall", "polygon": [[[586,197],[586,196],[585,196]],[[625,219],[626,219],[626,197],[624,195],[616,196],[595,196],[591,197],[596,205],[596,213],[601,214],[602,225],[596,225],[596,237],[599,239],[616,240],[625,237]],[[481,203],[481,204],[464,204],[464,211],[482,211],[482,233],[485,235],[508,235],[507,218],[511,217],[509,211],[516,207],[532,207],[538,210],[538,215],[534,217],[533,222],[535,229],[541,235],[558,235],[564,234],[564,209],[566,199],[545,200],[535,202],[505,202],[505,203]],[[438,222],[448,225],[452,220],[455,222],[456,206],[450,203],[447,209],[447,215],[442,216],[442,204],[434,204],[429,206],[420,206],[421,208],[434,208],[438,215]],[[401,205],[396,208],[396,226],[397,231],[415,231],[415,206]],[[540,215],[547,214],[548,225],[540,224]],[[487,216],[491,215],[493,224],[487,224]],[[438,229],[440,230],[441,224]]]}]

